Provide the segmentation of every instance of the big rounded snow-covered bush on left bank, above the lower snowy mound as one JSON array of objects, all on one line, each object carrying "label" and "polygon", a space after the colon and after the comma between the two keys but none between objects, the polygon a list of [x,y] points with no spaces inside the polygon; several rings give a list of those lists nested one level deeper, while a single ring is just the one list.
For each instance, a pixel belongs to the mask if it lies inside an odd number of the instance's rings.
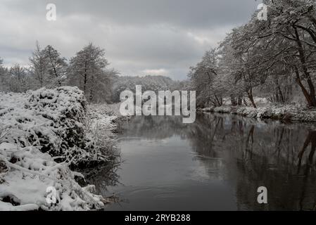
[{"label": "big rounded snow-covered bush on left bank, above the lower snowy mound", "polygon": [[27,94],[0,97],[0,126],[10,130],[6,141],[20,147],[38,146],[57,162],[95,164],[106,155],[96,148],[86,130],[86,106],[83,92],[76,87],[39,89]]}]

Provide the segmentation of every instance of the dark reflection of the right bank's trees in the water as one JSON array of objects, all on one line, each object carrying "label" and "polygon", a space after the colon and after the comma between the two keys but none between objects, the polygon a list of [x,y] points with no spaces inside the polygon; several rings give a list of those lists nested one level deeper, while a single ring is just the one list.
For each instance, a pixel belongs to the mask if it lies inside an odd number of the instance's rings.
[{"label": "dark reflection of the right bank's trees in the water", "polygon": [[[315,127],[231,115],[201,115],[196,125],[196,151],[225,159],[240,210],[315,209]],[[268,205],[254,201],[259,186],[267,187]]]}]

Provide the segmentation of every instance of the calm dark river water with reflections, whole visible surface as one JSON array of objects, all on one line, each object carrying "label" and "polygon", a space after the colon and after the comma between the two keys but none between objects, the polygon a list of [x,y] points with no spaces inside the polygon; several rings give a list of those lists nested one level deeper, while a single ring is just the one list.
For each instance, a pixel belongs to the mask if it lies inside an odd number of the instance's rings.
[{"label": "calm dark river water with reflections, whole visible surface", "polygon": [[[236,115],[132,117],[106,210],[315,210],[316,129]],[[259,204],[258,187],[267,188]]]}]

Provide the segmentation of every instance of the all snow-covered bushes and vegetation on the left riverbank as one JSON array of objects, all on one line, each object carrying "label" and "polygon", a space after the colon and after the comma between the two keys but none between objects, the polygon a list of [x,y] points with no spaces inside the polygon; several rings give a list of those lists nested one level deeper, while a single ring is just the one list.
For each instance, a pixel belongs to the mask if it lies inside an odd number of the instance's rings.
[{"label": "all snow-covered bushes and vegetation on the left riverbank", "polygon": [[[89,116],[87,116],[89,115]],[[89,120],[87,119],[89,118]],[[0,96],[0,210],[94,210],[108,200],[80,186],[80,169],[115,158],[106,105],[86,105],[76,87]],[[102,132],[99,132],[102,129]],[[56,204],[46,188],[56,188]]]}]

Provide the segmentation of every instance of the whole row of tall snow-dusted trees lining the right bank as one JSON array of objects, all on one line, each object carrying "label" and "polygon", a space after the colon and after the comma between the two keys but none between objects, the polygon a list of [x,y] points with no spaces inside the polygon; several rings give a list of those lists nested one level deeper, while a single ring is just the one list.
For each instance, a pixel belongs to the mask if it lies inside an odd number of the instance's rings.
[{"label": "whole row of tall snow-dusted trees lining the right bank", "polygon": [[258,94],[274,103],[291,103],[302,96],[316,107],[315,0],[264,0],[267,20],[251,20],[227,34],[216,49],[191,67],[189,79],[198,106],[257,107]]}]

